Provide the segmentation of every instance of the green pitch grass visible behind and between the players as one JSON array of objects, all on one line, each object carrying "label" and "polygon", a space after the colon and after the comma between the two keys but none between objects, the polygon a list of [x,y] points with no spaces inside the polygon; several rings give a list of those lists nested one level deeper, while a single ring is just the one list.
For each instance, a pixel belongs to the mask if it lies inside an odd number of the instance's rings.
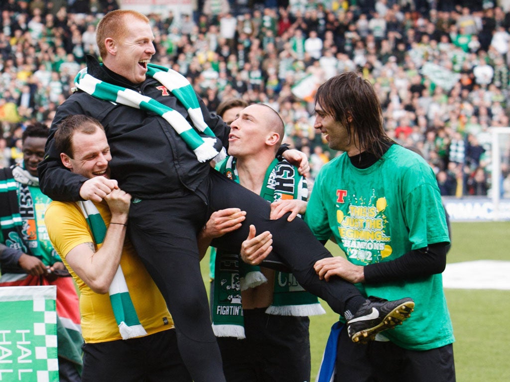
[{"label": "green pitch grass visible behind and between the players", "polygon": [[[447,261],[480,259],[510,261],[510,222],[452,223],[452,248]],[[328,244],[334,255],[341,255]],[[201,262],[209,285],[209,258]],[[209,288],[208,288],[209,289]],[[453,345],[458,381],[502,381],[510,375],[510,291],[447,289],[446,299],[453,321]],[[310,317],[312,378],[315,380],[331,325],[338,316],[322,302],[325,315]]]}]

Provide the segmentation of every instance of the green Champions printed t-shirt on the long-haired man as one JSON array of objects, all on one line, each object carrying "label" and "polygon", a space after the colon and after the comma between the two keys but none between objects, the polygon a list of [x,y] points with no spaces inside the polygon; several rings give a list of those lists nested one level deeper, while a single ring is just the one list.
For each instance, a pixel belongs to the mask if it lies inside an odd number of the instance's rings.
[{"label": "green Champions printed t-shirt on the long-haired man", "polygon": [[[368,169],[352,166],[347,154],[326,163],[315,180],[305,222],[319,240],[333,235],[347,259],[358,265],[449,242],[432,169],[398,145]],[[411,318],[384,332],[398,346],[427,350],[454,341],[440,274],[358,287],[366,296],[414,299]]]}]

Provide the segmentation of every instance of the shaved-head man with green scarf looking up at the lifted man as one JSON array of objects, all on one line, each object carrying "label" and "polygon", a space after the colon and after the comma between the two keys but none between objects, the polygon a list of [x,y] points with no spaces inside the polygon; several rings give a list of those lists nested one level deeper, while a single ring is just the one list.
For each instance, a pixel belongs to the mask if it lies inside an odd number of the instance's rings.
[{"label": "shaved-head man with green scarf looking up at the lifted man", "polygon": [[[220,172],[265,196],[269,202],[294,199],[296,205],[305,205],[306,180],[289,162],[275,159],[284,136],[284,123],[278,113],[262,103],[238,107],[230,126],[230,156],[217,166]],[[243,217],[244,211],[238,208],[213,213],[201,235],[202,249],[211,238],[237,229],[240,226],[237,221]],[[225,265],[232,262],[237,265],[236,272],[226,271]],[[217,254],[212,288],[213,328],[227,382],[310,380],[308,315],[324,312],[317,297],[293,284],[292,274],[265,267],[246,270],[246,267],[237,254],[224,251]],[[224,280],[234,281],[228,283],[231,288],[228,295],[233,297],[233,303],[225,303]],[[282,293],[282,288],[291,287],[296,291]],[[292,304],[285,303],[285,298],[292,298]],[[295,303],[296,298],[300,304]],[[242,316],[224,314],[235,311],[237,306],[242,306]],[[235,329],[226,330],[227,326]]]}]

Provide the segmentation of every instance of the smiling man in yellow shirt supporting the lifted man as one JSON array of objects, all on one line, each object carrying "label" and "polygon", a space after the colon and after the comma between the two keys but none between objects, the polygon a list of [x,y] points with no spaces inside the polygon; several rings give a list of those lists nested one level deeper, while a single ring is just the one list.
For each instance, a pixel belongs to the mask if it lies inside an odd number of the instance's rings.
[{"label": "smiling man in yellow shirt supporting the lifted man", "polygon": [[[56,131],[55,140],[62,162],[71,172],[88,178],[109,177],[112,157],[98,121],[70,116]],[[129,194],[115,189],[101,203],[85,202],[96,212],[89,213],[88,219],[79,204],[83,202],[54,201],[46,210],[49,237],[80,289],[83,382],[190,382],[163,296],[125,237],[130,202]],[[102,222],[94,222],[94,216]],[[101,239],[96,226],[106,229]],[[127,293],[123,295],[131,297],[145,335],[123,339],[112,297],[118,270],[125,280]],[[128,314],[123,321],[130,318]]]}]

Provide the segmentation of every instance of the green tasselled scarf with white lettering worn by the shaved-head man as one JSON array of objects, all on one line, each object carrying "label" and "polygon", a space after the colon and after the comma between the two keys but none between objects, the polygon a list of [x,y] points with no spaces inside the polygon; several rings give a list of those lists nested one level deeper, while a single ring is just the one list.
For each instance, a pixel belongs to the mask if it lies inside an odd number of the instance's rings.
[{"label": "green tasselled scarf with white lettering worn by the shaved-head man", "polygon": [[[217,169],[228,178],[239,182],[236,158],[229,156]],[[276,199],[307,199],[306,183],[297,169],[286,161],[274,159],[266,171],[261,197],[268,202]],[[215,260],[213,295],[213,331],[217,337],[245,338],[241,290],[256,287],[266,278],[259,266],[243,263],[237,254],[218,251]],[[282,316],[312,316],[324,314],[319,300],[305,291],[292,274],[276,271],[273,303],[267,314]]]}]

